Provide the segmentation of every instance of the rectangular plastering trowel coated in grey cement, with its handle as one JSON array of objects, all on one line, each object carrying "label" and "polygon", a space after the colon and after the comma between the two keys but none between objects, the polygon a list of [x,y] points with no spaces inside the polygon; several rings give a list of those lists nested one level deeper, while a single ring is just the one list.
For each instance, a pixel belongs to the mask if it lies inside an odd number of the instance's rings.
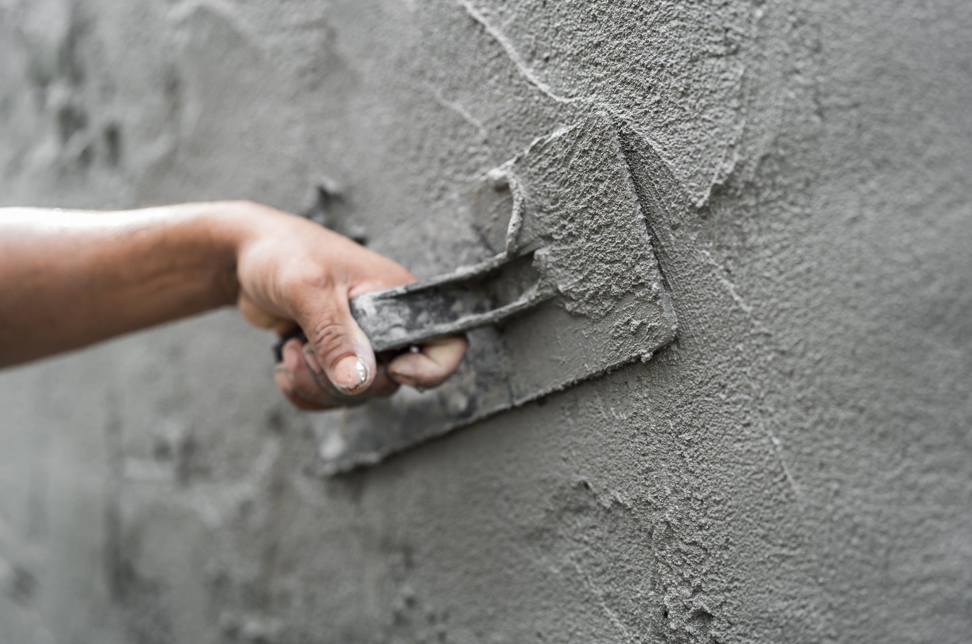
[{"label": "rectangular plastering trowel coated in grey cement, with its handle", "polygon": [[375,463],[463,425],[647,360],[676,317],[610,117],[538,138],[453,196],[480,261],[351,300],[376,352],[468,333],[436,390],[343,412],[321,439],[324,474]]}]

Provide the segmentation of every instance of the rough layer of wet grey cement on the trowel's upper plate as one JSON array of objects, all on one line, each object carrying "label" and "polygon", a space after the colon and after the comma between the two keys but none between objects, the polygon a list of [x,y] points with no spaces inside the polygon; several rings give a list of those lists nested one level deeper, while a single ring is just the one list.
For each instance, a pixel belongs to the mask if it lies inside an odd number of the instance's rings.
[{"label": "rough layer of wet grey cement on the trowel's upper plate", "polygon": [[[541,274],[568,310],[594,320],[626,297],[643,298],[659,287],[637,202],[632,208],[617,196],[634,194],[627,163],[616,143],[605,145],[602,139],[617,140],[606,113],[543,137],[511,167],[526,193],[518,236],[533,233],[542,240],[536,254],[544,266]],[[603,158],[605,151],[615,158]]]}]

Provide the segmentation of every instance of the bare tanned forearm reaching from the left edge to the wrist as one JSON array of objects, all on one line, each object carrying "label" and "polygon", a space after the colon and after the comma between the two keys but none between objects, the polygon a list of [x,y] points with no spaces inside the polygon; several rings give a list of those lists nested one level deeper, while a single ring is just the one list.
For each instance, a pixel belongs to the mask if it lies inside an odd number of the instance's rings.
[{"label": "bare tanned forearm reaching from the left edge to the wrist", "polygon": [[0,366],[233,303],[227,209],[0,209]]}]

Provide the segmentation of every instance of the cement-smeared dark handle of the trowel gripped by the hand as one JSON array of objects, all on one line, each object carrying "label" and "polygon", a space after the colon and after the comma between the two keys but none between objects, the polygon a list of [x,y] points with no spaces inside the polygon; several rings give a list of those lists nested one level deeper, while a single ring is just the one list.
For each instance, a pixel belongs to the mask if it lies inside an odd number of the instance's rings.
[{"label": "cement-smeared dark handle of the trowel gripped by the hand", "polygon": [[[502,322],[553,295],[532,259],[532,254],[511,259],[499,254],[430,280],[364,293],[351,300],[351,315],[375,352]],[[292,337],[306,340],[300,331],[282,337],[274,347],[277,361]]]}]

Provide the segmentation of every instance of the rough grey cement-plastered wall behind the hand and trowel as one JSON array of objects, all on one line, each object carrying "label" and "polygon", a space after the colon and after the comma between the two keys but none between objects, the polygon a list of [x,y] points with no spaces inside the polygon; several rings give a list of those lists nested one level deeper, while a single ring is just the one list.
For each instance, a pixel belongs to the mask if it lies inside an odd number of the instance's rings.
[{"label": "rough grey cement-plastered wall behind the hand and trowel", "polygon": [[968,641],[969,33],[967,0],[0,2],[5,204],[316,208],[432,275],[443,195],[603,110],[679,321],[335,479],[340,414],[230,311],[6,371],[0,641]]}]

